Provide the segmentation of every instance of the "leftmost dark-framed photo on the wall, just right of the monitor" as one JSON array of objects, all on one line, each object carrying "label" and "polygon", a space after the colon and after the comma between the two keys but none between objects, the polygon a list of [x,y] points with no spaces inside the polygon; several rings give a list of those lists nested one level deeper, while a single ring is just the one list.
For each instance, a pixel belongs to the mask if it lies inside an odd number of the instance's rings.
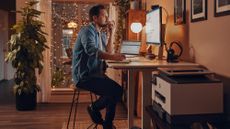
[{"label": "leftmost dark-framed photo on the wall, just right of the monitor", "polygon": [[174,0],[174,24],[186,23],[186,0]]}]

